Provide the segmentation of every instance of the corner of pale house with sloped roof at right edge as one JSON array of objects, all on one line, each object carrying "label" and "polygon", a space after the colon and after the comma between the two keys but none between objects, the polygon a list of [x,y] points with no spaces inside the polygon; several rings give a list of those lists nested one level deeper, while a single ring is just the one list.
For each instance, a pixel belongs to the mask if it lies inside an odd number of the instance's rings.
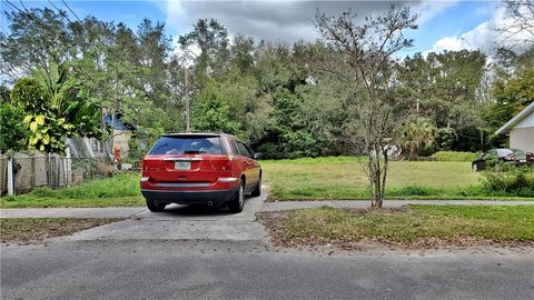
[{"label": "corner of pale house with sloped roof at right edge", "polygon": [[510,134],[510,148],[534,153],[534,102],[501,127],[495,134]]}]

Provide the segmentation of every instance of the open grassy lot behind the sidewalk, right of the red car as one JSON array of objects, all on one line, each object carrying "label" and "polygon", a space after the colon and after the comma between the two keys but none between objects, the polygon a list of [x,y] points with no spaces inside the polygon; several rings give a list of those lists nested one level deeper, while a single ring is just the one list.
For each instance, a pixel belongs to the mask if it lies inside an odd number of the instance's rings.
[{"label": "open grassy lot behind the sidewalk, right of the red car", "polygon": [[[357,158],[317,158],[261,161],[270,201],[369,199],[368,180]],[[510,199],[481,186],[469,162],[392,161],[388,199]]]}]

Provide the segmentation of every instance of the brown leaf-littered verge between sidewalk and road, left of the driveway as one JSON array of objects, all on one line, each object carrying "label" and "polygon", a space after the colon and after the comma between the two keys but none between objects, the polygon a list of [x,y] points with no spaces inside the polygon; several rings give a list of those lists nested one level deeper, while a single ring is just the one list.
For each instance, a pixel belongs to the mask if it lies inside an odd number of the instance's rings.
[{"label": "brown leaf-littered verge between sidewalk and road, left of the driveway", "polygon": [[13,218],[0,219],[0,242],[29,244],[72,234],[89,228],[122,221],[121,218]]}]

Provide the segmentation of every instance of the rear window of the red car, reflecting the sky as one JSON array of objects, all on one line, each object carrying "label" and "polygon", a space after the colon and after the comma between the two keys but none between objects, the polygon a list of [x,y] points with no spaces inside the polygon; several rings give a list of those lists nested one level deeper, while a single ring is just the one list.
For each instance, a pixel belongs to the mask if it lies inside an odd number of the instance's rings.
[{"label": "rear window of the red car, reflecting the sky", "polygon": [[219,137],[161,137],[150,154],[224,154]]}]

